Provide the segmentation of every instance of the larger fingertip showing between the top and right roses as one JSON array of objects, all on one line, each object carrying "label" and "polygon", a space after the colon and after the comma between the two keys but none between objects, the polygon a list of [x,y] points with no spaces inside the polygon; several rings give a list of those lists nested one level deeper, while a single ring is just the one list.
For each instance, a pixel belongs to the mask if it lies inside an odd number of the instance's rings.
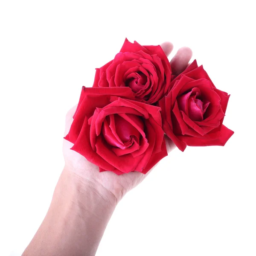
[{"label": "larger fingertip showing between the top and right roses", "polygon": [[170,61],[172,73],[175,75],[182,73],[186,69],[191,58],[192,50],[189,47],[180,48]]}]

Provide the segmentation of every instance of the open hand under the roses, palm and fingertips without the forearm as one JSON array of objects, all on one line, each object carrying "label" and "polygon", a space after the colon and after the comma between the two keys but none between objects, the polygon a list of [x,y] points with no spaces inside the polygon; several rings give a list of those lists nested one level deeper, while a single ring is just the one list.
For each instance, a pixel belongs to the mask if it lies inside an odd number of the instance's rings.
[{"label": "open hand under the roses, palm and fingertips without the forearm", "polygon": [[[167,56],[173,49],[173,45],[169,42],[161,44],[161,47]],[[183,70],[188,66],[191,57],[191,49],[187,47],[180,48],[170,61],[172,72],[175,75],[183,72]],[[76,106],[71,108],[67,113],[65,135],[70,129],[75,111]],[[114,203],[118,203],[125,193],[137,186],[149,174],[149,172],[146,175],[140,172],[130,172],[118,176],[113,172],[99,172],[98,166],[87,161],[76,151],[70,150],[72,146],[72,143],[64,140],[63,153],[65,159],[65,171],[78,177],[82,183],[92,186],[93,189],[96,189],[101,196],[107,197],[108,201],[110,200]],[[172,141],[167,137],[166,146],[168,152],[175,148],[174,143],[172,143]]]}]

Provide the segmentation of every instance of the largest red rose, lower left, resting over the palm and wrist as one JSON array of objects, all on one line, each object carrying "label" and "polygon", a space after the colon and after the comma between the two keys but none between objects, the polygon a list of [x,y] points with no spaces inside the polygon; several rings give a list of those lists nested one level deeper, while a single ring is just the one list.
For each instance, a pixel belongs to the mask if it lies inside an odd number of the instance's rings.
[{"label": "largest red rose, lower left, resting over the palm and wrist", "polygon": [[65,139],[100,172],[145,174],[167,155],[160,108],[131,98],[128,87],[82,89]]}]

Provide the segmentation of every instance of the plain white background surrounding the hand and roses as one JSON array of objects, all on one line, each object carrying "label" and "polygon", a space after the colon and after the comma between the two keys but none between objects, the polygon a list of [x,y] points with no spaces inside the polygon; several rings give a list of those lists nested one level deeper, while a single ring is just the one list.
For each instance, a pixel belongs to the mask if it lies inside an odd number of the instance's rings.
[{"label": "plain white background surrounding the hand and roses", "polygon": [[191,47],[231,94],[224,124],[235,134],[166,157],[119,203],[97,256],[256,255],[250,2],[0,0],[1,256],[21,255],[41,224],[64,166],[65,113],[125,37]]}]

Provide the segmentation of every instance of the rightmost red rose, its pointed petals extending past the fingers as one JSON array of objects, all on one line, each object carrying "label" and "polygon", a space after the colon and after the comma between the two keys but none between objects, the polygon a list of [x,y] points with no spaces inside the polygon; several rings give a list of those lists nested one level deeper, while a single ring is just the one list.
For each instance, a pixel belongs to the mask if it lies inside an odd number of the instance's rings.
[{"label": "rightmost red rose, its pointed petals extending past the fingers", "polygon": [[222,125],[229,96],[218,90],[194,61],[159,101],[163,130],[184,151],[189,146],[225,145],[233,131]]}]

